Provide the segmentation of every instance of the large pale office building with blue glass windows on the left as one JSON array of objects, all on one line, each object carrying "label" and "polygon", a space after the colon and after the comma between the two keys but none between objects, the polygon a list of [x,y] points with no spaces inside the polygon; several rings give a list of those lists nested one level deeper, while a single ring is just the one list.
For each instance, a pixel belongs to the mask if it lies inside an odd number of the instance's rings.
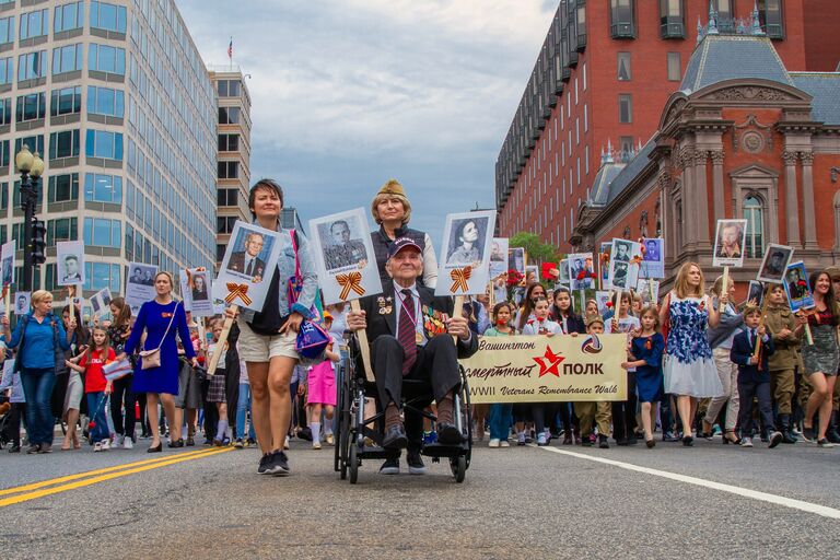
[{"label": "large pale office building with blue glass windows on the left", "polygon": [[131,260],[212,267],[217,112],[172,0],[0,0],[0,241],[16,240],[22,262],[13,162],[26,143],[46,164],[33,287],[59,289],[59,241],[84,241],[85,295],[122,293]]}]

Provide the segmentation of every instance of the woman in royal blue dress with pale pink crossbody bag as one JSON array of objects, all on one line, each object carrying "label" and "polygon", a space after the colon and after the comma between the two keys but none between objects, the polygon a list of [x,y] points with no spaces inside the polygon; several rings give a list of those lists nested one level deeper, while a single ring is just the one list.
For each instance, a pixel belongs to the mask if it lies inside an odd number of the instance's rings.
[{"label": "woman in royal blue dress with pale pink crossbody bag", "polygon": [[[154,290],[158,292],[154,300],[143,303],[137,315],[137,322],[131,335],[126,341],[125,350],[117,360],[125,359],[126,354],[135,353],[135,350],[154,350],[160,346],[161,365],[143,370],[142,358],[135,368],[135,382],[131,390],[145,393],[147,410],[149,411],[149,425],[152,429],[152,445],[148,453],[159,453],[161,444],[161,431],[158,429],[158,402],[163,402],[166,421],[170,424],[170,447],[183,447],[180,438],[180,422],[175,417],[175,395],[178,394],[178,345],[175,336],[180,338],[182,346],[187,357],[192,361],[192,366],[198,366],[196,352],[189,338],[187,327],[187,314],[184,305],[172,298],[173,280],[168,272],[158,272],[154,277]],[[140,338],[145,332],[145,342],[139,348]]]}]

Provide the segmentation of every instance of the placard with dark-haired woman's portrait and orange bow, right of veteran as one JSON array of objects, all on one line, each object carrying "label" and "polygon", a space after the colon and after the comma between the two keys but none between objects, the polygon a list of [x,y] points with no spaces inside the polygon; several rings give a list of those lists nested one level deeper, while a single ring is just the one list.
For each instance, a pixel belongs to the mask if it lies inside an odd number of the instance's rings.
[{"label": "placard with dark-haired woman's portrait and orange bow, right of veteran", "polygon": [[[447,214],[435,295],[482,294],[490,276],[495,211]],[[524,259],[523,259],[524,260]],[[524,262],[523,262],[524,264]]]}]

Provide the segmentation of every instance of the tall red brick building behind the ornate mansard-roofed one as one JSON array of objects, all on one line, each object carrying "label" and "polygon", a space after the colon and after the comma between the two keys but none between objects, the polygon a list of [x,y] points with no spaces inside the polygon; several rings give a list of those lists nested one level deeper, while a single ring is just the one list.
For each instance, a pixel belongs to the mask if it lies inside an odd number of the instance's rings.
[{"label": "tall red brick building behind the ornate mansard-roofed one", "polygon": [[[561,1],[497,161],[502,236],[529,231],[564,252],[587,248],[583,242],[590,236],[575,234],[583,207],[598,198],[618,166],[631,165],[660,128],[663,107],[681,89],[702,34],[700,21],[709,21],[710,10],[722,35],[747,36],[760,25],[768,37],[761,40],[772,43],[788,69],[832,71],[840,61],[840,34],[815,33],[826,21],[837,21],[831,13],[840,14],[840,2]],[[761,70],[747,65],[740,78],[761,79]],[[740,125],[746,116],[730,118]],[[774,124],[761,112],[756,119]],[[616,167],[604,171],[608,147],[615,149]],[[654,208],[648,217],[653,234]],[[631,234],[638,236],[640,218],[622,221],[619,233],[631,221]]]}]

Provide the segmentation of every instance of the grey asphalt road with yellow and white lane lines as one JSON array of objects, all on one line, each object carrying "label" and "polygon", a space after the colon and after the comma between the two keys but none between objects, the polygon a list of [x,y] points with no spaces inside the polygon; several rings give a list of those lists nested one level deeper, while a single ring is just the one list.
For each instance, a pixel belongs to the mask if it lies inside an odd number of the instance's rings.
[{"label": "grey asphalt road with yellow and white lane lines", "polygon": [[289,478],[253,448],[1,451],[2,558],[840,556],[840,448],[477,444],[463,485],[427,459],[351,486],[330,447],[292,445]]}]

